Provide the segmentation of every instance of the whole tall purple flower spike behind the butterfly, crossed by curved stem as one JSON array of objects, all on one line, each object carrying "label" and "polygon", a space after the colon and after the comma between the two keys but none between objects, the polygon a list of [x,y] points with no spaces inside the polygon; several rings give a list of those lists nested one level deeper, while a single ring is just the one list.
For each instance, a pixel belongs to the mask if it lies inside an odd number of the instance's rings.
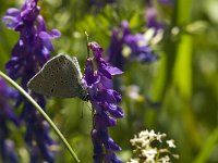
[{"label": "whole tall purple flower spike behind the butterfly, crossed by curved stem", "polygon": [[[60,37],[58,29],[47,30],[39,11],[37,0],[26,0],[21,10],[9,9],[2,17],[10,29],[20,33],[20,39],[5,67],[13,79],[21,79],[21,85],[25,90],[27,90],[28,80],[49,60],[50,51],[53,50],[51,39]],[[32,96],[45,109],[44,97],[35,93]],[[44,161],[53,162],[53,153],[48,147],[55,142],[49,137],[45,120],[22,95],[19,95],[15,106],[19,108],[21,104],[23,104],[23,110],[20,118],[26,122],[25,141],[29,146],[32,162],[38,162],[40,156]]]}]

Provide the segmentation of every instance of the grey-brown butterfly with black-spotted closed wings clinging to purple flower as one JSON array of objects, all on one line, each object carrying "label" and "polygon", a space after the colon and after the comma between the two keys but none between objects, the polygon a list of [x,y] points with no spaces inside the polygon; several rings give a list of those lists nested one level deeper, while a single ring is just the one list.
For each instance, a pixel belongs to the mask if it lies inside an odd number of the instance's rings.
[{"label": "grey-brown butterfly with black-spotted closed wings clinging to purple flower", "polygon": [[82,77],[77,59],[59,54],[45,63],[43,68],[28,82],[27,87],[45,96],[77,97],[87,101],[88,91]]}]

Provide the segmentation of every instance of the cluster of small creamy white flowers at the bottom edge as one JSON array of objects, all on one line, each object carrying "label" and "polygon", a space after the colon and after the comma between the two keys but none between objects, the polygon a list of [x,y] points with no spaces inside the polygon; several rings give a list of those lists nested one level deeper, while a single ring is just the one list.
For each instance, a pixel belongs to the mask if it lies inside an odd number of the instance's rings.
[{"label": "cluster of small creamy white flowers at the bottom edge", "polygon": [[135,158],[128,163],[170,163],[170,158],[179,159],[179,155],[170,152],[171,148],[175,148],[174,140],[166,140],[166,134],[155,134],[154,130],[143,130],[138,136],[131,139]]}]

